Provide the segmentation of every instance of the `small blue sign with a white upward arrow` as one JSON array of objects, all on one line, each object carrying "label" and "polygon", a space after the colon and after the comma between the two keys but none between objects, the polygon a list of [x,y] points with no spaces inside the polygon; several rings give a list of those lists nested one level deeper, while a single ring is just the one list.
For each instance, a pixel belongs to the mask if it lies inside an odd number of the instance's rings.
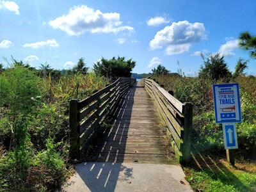
[{"label": "small blue sign with a white upward arrow", "polygon": [[237,146],[237,133],[236,124],[223,124],[223,136],[225,149],[238,148]]}]

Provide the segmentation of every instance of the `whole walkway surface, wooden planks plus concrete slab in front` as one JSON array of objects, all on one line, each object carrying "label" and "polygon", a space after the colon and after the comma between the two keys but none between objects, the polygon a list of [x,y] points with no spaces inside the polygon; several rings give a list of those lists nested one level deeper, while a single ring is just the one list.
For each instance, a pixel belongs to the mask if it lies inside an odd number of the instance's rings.
[{"label": "whole walkway surface, wooden planks plus concrete slab in front", "polygon": [[168,159],[154,103],[140,81],[120,102],[87,162],[62,191],[192,191]]}]

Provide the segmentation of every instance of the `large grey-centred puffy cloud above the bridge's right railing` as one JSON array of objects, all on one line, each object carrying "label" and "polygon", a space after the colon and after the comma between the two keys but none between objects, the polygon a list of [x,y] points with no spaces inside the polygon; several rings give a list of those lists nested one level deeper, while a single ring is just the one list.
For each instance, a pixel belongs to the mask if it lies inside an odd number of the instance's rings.
[{"label": "large grey-centred puffy cloud above the bridge's right railing", "polygon": [[166,47],[166,54],[180,54],[189,51],[191,44],[207,38],[204,24],[187,20],[173,22],[161,31],[157,31],[149,43],[150,50]]}]

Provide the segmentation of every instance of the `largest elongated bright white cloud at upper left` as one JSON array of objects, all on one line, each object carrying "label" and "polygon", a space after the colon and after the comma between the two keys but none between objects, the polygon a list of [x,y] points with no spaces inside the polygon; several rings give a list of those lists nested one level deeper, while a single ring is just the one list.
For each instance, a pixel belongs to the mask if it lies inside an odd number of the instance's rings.
[{"label": "largest elongated bright white cloud at upper left", "polygon": [[68,35],[81,35],[85,31],[91,33],[118,33],[134,31],[130,26],[121,26],[119,13],[102,13],[86,5],[70,8],[67,15],[62,15],[48,23],[54,29],[61,29]]}]

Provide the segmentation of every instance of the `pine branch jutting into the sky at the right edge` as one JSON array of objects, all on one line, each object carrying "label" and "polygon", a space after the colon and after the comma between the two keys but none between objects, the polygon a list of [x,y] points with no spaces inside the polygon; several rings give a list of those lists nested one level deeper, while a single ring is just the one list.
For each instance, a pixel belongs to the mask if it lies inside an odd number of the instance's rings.
[{"label": "pine branch jutting into the sky at the right edge", "polygon": [[251,35],[249,31],[244,31],[240,33],[239,37],[239,47],[245,51],[250,52],[252,58],[256,58],[256,35]]}]

